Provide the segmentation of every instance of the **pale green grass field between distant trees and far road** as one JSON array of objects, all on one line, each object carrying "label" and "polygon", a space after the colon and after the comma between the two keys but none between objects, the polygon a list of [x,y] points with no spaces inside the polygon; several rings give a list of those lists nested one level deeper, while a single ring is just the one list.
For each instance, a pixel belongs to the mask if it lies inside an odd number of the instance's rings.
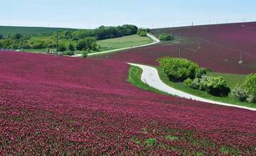
[{"label": "pale green grass field between distant trees and far road", "polygon": [[122,38],[99,40],[97,41],[97,44],[102,47],[101,51],[107,51],[119,48],[129,48],[137,45],[145,45],[151,42],[152,40],[148,37],[142,37],[139,35],[128,35]]}]

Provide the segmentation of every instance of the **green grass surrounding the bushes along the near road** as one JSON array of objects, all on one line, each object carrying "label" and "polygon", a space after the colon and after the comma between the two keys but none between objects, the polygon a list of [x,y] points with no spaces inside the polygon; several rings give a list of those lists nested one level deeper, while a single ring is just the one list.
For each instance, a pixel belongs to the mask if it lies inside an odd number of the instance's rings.
[{"label": "green grass surrounding the bushes along the near road", "polygon": [[[195,95],[195,96],[199,96],[204,99],[210,99],[213,101],[220,101],[220,102],[224,102],[227,104],[234,104],[234,105],[239,105],[239,106],[247,106],[250,108],[256,108],[256,104],[241,102],[238,99],[235,99],[235,97],[233,97],[232,95],[229,95],[228,97],[212,96],[212,95],[208,94],[206,91],[199,91],[196,89],[191,89],[189,87],[186,87],[182,83],[171,82],[169,80],[169,77],[167,77],[167,75],[164,73],[164,71],[160,67],[156,67],[156,69],[159,72],[160,79],[165,84],[169,85],[169,87],[173,87],[174,89],[178,89],[180,91],[183,91],[188,94]],[[210,74],[223,76],[227,81],[230,81],[230,82],[228,82],[228,86],[230,88],[235,87],[236,84],[241,84],[246,77],[246,75],[238,75],[238,74],[222,74],[222,73],[210,73]]]}]

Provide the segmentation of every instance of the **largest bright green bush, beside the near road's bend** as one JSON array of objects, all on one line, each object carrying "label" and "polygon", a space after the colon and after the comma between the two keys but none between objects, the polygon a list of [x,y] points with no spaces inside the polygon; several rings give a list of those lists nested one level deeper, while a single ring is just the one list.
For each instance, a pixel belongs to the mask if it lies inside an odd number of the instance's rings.
[{"label": "largest bright green bush, beside the near road's bend", "polygon": [[169,79],[175,82],[183,82],[188,78],[194,79],[196,69],[199,68],[196,63],[186,59],[162,57],[157,61]]}]

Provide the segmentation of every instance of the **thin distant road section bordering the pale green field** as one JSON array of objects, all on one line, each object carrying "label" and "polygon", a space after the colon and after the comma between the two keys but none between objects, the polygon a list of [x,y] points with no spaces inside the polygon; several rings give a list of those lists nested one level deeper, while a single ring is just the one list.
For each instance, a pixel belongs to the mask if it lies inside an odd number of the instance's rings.
[{"label": "thin distant road section bordering the pale green field", "polygon": [[[151,38],[152,40],[154,40],[154,42],[153,43],[148,43],[146,45],[137,45],[137,46],[133,46],[133,47],[119,48],[119,49],[115,49],[115,50],[107,50],[107,51],[104,51],[104,52],[93,52],[93,53],[88,54],[88,56],[100,55],[100,54],[105,54],[105,53],[109,53],[109,52],[117,52],[117,51],[120,51],[120,50],[129,50],[129,49],[132,49],[132,48],[146,47],[146,46],[149,46],[149,45],[154,45],[156,43],[160,43],[160,40],[158,38],[156,38],[154,35],[151,35],[150,33],[147,33],[146,35],[149,38]],[[82,54],[73,55],[71,57],[82,57]]]}]

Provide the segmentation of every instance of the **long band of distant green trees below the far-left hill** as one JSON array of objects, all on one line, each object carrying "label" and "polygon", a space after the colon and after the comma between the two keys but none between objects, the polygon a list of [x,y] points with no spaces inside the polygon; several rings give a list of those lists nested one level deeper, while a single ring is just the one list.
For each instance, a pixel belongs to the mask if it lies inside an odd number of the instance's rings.
[{"label": "long band of distant green trees below the far-left hill", "polygon": [[[66,30],[58,32],[58,48],[65,50],[97,50],[97,40],[118,38],[137,33],[137,26],[100,26],[93,30]],[[88,45],[91,44],[91,45]],[[44,49],[56,47],[56,33],[9,34],[4,38],[0,34],[0,48],[4,49]]]}]

